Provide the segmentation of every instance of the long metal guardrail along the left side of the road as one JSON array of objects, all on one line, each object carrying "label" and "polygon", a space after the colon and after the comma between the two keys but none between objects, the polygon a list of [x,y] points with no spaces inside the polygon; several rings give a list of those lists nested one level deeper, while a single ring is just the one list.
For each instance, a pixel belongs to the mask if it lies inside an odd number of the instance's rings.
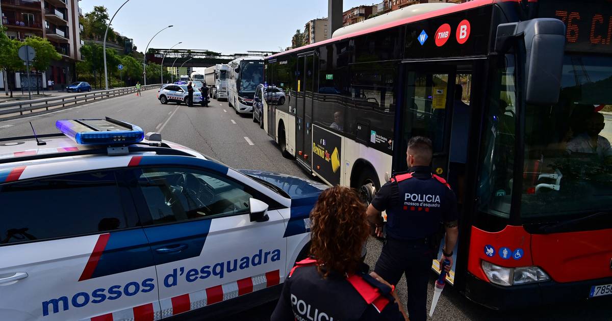
[{"label": "long metal guardrail along the left side of the road", "polygon": [[[141,91],[159,89],[162,84],[152,84],[142,86]],[[32,114],[46,113],[50,110],[60,110],[69,108],[80,103],[88,103],[96,100],[104,100],[136,92],[136,87],[123,87],[119,89],[96,90],[92,92],[82,92],[72,95],[61,95],[49,98],[39,98],[32,100],[15,100],[7,103],[0,103],[0,120],[16,119]],[[28,112],[29,113],[26,113]]]}]

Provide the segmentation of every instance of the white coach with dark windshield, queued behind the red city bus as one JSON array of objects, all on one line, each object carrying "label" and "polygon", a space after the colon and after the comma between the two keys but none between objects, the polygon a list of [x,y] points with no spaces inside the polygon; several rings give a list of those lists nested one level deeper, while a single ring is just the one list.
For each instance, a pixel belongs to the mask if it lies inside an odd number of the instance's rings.
[{"label": "white coach with dark windshield, queued behind the red city bus", "polygon": [[263,82],[264,58],[240,57],[228,62],[228,103],[236,114],[253,113],[255,88]]}]

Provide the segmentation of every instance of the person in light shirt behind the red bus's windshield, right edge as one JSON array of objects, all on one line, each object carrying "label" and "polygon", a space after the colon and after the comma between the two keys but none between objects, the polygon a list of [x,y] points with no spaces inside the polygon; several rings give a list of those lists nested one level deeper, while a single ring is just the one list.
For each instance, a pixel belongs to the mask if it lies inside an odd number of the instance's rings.
[{"label": "person in light shirt behind the red bus's windshield, right edge", "polygon": [[593,112],[585,123],[585,131],[567,143],[565,151],[571,153],[592,153],[605,164],[612,164],[610,141],[599,135],[605,127],[603,114]]}]

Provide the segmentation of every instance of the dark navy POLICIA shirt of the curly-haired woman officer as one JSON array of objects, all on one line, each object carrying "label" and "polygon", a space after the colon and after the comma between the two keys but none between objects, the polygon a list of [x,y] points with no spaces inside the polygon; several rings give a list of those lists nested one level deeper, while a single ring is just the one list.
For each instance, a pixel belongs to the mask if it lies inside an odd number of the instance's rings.
[{"label": "dark navy POLICIA shirt of the curly-haired woman officer", "polygon": [[[367,265],[364,266],[367,271]],[[390,291],[369,275],[362,275]],[[271,320],[404,320],[390,292],[388,297],[385,298],[388,303],[378,311],[376,304],[368,304],[346,277],[332,273],[324,279],[315,264],[298,266],[285,280]]]}]

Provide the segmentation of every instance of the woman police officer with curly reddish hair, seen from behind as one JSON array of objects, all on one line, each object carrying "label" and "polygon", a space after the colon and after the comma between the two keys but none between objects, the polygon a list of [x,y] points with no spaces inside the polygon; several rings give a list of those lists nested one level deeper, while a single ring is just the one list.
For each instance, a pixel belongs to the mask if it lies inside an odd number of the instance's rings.
[{"label": "woman police officer with curly reddish hair, seen from behind", "polygon": [[369,232],[357,194],[341,186],[323,191],[310,219],[316,259],[291,270],[271,320],[405,320],[393,287],[362,263]]}]

